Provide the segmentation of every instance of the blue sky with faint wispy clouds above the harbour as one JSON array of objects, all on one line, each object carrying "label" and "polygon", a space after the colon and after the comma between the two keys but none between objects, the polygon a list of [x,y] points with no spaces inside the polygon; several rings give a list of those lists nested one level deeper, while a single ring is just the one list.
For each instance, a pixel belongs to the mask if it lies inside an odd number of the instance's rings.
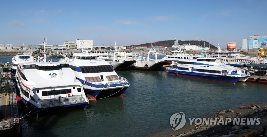
[{"label": "blue sky with faint wispy clouds above the harbour", "polygon": [[1,1],[0,44],[38,45],[45,37],[51,45],[84,39],[128,46],[177,38],[240,48],[243,38],[267,35],[266,11],[267,0]]}]

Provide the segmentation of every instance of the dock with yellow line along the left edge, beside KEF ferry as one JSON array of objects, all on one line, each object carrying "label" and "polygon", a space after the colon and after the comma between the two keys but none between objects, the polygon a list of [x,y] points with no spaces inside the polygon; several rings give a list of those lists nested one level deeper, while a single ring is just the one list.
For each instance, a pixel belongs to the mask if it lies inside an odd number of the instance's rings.
[{"label": "dock with yellow line along the left edge, beside KEF ferry", "polygon": [[19,113],[20,107],[17,105],[16,88],[10,74],[3,78],[0,74],[0,135],[2,136],[19,136],[20,124]]}]

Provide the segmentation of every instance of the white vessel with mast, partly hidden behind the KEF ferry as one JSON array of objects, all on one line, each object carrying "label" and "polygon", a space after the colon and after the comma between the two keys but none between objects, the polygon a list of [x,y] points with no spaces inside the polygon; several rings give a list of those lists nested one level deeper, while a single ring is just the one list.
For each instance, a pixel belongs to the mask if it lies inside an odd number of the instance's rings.
[{"label": "white vessel with mast, partly hidden behind the KEF ferry", "polygon": [[[23,43],[23,50],[24,50],[24,43]],[[12,67],[11,67],[11,73],[13,76],[16,74],[16,69],[18,66],[18,63],[24,63],[24,62],[34,62],[35,58],[33,58],[31,53],[25,53],[25,50],[23,54],[17,53],[12,59]]]}]

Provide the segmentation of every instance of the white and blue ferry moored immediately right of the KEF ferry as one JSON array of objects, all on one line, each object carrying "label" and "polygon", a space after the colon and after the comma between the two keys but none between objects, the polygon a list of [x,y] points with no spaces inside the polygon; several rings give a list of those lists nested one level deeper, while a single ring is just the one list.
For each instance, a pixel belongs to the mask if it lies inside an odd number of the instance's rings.
[{"label": "white and blue ferry moored immediately right of the KEF ferry", "polygon": [[69,64],[76,79],[83,84],[89,99],[123,95],[130,85],[128,80],[118,76],[107,61],[99,60],[97,57],[97,54],[83,50],[82,53],[73,53],[72,59],[60,59],[59,62]]}]

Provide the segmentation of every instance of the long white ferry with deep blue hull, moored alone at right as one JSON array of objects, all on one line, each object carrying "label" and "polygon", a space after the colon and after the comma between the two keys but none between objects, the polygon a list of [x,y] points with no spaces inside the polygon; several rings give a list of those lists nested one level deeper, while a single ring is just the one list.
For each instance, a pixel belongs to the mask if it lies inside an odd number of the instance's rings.
[{"label": "long white ferry with deep blue hull, moored alone at right", "polygon": [[205,79],[224,83],[237,83],[246,81],[249,72],[215,62],[216,58],[178,59],[167,68],[167,73],[196,79]]}]

